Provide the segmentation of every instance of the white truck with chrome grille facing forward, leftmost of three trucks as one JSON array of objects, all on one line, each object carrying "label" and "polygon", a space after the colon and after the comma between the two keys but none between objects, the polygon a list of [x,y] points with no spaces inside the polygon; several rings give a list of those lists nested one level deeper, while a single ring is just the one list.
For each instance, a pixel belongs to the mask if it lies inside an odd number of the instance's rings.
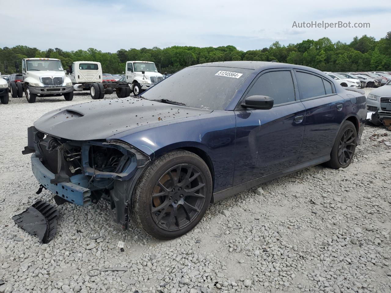
[{"label": "white truck with chrome grille facing forward, leftmost of three trucks", "polygon": [[29,103],[37,96],[64,96],[73,99],[73,86],[59,59],[25,58],[22,59],[24,92]]}]

